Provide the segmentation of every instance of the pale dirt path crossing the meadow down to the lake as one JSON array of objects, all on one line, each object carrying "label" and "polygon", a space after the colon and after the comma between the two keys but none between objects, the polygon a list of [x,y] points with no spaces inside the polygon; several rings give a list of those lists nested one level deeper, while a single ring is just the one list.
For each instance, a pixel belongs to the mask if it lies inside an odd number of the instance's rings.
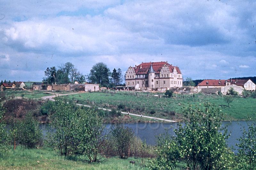
[{"label": "pale dirt path crossing the meadow down to the lake", "polygon": [[[52,96],[44,96],[44,97],[41,97],[41,99],[54,101],[53,98],[54,98],[54,97],[57,97],[57,96],[66,96],[66,95],[80,94],[80,93],[84,93],[84,92],[68,93],[68,94],[53,93],[54,95],[52,95]],[[91,107],[91,106],[89,106],[89,105],[82,105],[82,104],[76,104],[76,105],[78,105],[78,106],[84,106],[84,107]],[[102,107],[98,107],[98,108],[101,109],[101,110],[111,111],[111,109],[106,109],[106,108],[102,108]],[[161,118],[157,118],[157,117],[144,116],[144,115],[137,115],[137,114],[128,113],[128,112],[121,112],[121,113],[124,114],[124,115],[132,115],[132,116],[137,116],[137,117],[144,117],[144,118],[159,120],[159,121],[163,121],[163,122],[176,122],[176,121],[173,121],[173,120],[161,119]]]}]

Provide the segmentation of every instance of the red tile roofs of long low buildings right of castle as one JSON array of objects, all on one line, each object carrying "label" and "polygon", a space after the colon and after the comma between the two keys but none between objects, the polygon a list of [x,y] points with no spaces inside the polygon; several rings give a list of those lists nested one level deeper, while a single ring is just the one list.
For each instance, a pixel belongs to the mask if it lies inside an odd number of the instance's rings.
[{"label": "red tile roofs of long low buildings right of castle", "polygon": [[230,85],[238,85],[243,86],[248,80],[203,80],[201,83],[199,83],[199,86],[225,86],[226,81],[230,83]]}]

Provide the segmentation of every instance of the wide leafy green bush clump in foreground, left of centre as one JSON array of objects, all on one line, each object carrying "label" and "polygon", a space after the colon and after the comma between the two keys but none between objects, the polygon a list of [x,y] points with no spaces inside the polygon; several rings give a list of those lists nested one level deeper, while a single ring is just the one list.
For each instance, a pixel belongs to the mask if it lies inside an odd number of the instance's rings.
[{"label": "wide leafy green bush clump in foreground, left of centre", "polygon": [[60,155],[85,155],[91,162],[98,161],[104,136],[97,112],[91,108],[78,108],[61,98],[55,100],[52,110],[48,144]]}]

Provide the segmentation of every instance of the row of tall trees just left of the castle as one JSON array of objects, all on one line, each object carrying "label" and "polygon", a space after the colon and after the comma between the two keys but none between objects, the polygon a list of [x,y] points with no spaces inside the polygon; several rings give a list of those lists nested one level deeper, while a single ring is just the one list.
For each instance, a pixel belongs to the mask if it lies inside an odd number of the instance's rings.
[{"label": "row of tall trees just left of the castle", "polygon": [[95,64],[88,75],[83,75],[78,71],[72,63],[65,63],[58,67],[47,67],[44,71],[44,84],[68,84],[84,83],[85,81],[93,84],[100,84],[103,87],[113,87],[122,85],[123,75],[122,70],[118,68],[111,72],[108,66],[104,63]]}]

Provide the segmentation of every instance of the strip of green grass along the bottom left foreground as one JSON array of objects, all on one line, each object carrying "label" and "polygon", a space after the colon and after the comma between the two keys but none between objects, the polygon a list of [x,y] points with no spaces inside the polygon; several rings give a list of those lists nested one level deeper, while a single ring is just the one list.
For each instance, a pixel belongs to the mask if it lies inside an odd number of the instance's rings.
[{"label": "strip of green grass along the bottom left foreground", "polygon": [[[130,161],[136,161],[131,165]],[[145,160],[145,163],[146,160]],[[100,163],[89,163],[82,161],[78,157],[68,159],[59,156],[57,153],[44,149],[22,149],[18,147],[16,151],[9,151],[0,157],[0,169],[88,169],[88,170],[119,170],[119,169],[145,169],[140,166],[140,159],[119,159],[110,158]]]}]

